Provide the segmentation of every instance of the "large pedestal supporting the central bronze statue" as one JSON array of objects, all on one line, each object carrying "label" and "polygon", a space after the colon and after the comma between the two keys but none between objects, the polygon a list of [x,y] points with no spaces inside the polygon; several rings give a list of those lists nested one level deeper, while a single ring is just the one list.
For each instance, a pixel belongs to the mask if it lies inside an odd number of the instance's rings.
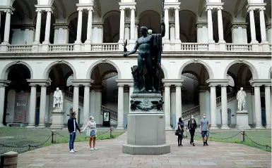
[{"label": "large pedestal supporting the central bronze statue", "polygon": [[[170,153],[165,138],[165,114],[154,108],[161,100],[160,93],[137,93],[131,96],[136,109],[128,115],[127,143],[123,153],[131,155],[161,155]],[[141,102],[141,103],[139,103]]]}]

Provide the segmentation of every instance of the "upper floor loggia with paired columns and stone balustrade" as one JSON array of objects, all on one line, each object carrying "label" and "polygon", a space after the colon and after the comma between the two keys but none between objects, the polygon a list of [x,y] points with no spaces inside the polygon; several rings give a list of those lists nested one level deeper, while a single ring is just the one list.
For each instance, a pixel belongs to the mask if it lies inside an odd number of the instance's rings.
[{"label": "upper floor loggia with paired columns and stone balustrade", "polygon": [[123,51],[145,25],[164,51],[271,51],[271,0],[1,0],[0,51]]}]

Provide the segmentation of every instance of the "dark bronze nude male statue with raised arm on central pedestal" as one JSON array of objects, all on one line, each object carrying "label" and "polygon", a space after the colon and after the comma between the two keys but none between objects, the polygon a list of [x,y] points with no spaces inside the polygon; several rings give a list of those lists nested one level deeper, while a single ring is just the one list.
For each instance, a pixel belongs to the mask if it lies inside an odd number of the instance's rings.
[{"label": "dark bronze nude male statue with raised arm on central pedestal", "polygon": [[[165,22],[161,22],[161,34],[148,34],[148,28],[142,26],[142,37],[136,40],[134,49],[124,53],[127,57],[138,51],[138,66],[131,67],[134,75],[134,93],[139,91],[160,91],[160,61],[162,53],[162,37],[165,36]],[[146,67],[146,74],[143,70]]]}]

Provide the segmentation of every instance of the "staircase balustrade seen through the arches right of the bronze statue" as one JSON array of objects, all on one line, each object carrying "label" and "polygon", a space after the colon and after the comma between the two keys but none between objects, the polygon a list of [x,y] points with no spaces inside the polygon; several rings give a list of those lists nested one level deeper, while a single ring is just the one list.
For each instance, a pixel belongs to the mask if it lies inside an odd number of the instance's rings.
[{"label": "staircase balustrade seen through the arches right of the bronze statue", "polygon": [[[234,101],[235,99],[236,99],[236,95],[235,95],[234,91],[227,93],[227,103],[229,103],[230,101]],[[220,105],[221,105],[221,96],[216,98],[216,107],[219,107]],[[183,111],[182,117],[183,117],[184,121],[187,121],[187,119],[190,119],[191,115],[194,115],[194,117],[199,116],[200,115],[199,108],[200,108],[200,106],[197,105],[194,108],[190,108],[189,110]]]}]

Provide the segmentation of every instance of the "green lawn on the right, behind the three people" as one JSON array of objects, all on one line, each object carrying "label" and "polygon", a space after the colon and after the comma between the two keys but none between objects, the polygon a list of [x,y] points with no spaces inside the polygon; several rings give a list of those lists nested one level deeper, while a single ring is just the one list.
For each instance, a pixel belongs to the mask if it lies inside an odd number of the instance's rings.
[{"label": "green lawn on the right, behind the three people", "polygon": [[[261,150],[266,150],[266,151],[271,152],[271,129],[247,130],[247,131],[245,131],[245,134],[246,134],[246,137],[245,137],[245,141],[243,143],[244,145],[252,146],[254,148],[260,148]],[[186,135],[186,133],[185,133],[185,135]],[[188,133],[188,138],[190,138],[190,133]],[[195,139],[196,140],[202,139],[199,131],[196,131]],[[241,143],[240,131],[214,130],[214,131],[210,132],[209,141],[227,142],[227,143]],[[270,148],[269,148],[269,146],[270,146]]]}]

